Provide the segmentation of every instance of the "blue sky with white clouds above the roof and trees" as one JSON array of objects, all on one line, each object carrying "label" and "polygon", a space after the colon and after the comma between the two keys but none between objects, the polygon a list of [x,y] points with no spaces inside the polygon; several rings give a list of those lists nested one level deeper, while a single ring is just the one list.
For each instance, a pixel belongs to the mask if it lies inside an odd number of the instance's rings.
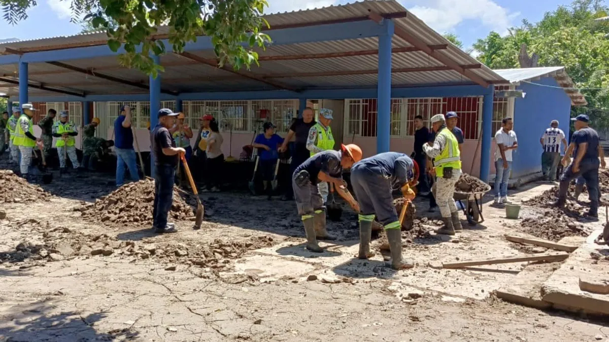
[{"label": "blue sky with white clouds above the roof and trees", "polygon": [[[268,0],[266,13],[290,12],[344,4],[347,0]],[[353,0],[352,0],[353,1]],[[423,19],[440,33],[455,33],[463,46],[470,47],[478,38],[484,38],[491,30],[502,35],[507,29],[518,26],[522,19],[535,22],[547,11],[558,5],[568,5],[571,0],[398,0],[406,9]],[[0,18],[0,40],[74,35],[80,32],[78,24],[70,23],[70,1],[38,0],[30,9],[29,18],[12,26]]]}]

